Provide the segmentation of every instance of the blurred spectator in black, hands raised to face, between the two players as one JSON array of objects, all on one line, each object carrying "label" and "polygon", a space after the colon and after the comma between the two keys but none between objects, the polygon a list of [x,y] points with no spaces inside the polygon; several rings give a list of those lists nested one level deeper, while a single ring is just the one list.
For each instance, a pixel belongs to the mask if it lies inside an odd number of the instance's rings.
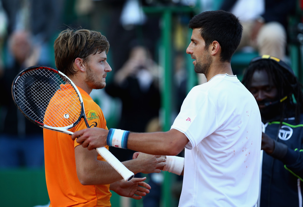
[{"label": "blurred spectator in black, hands raised to face, between the two players", "polygon": [[[115,73],[113,82],[105,87],[105,91],[109,95],[118,97],[122,101],[121,118],[118,122],[119,129],[132,132],[155,130],[155,126],[159,129],[159,126],[153,124],[155,122],[152,121],[159,116],[160,109],[158,70],[159,67],[151,58],[148,48],[136,43],[133,44],[129,52],[129,59]],[[109,150],[121,162],[132,159],[135,152],[114,147],[110,147]],[[151,174],[149,177],[148,184],[154,190],[145,196],[143,203],[144,207],[156,207],[160,201],[161,183],[154,180],[157,176]]]}]

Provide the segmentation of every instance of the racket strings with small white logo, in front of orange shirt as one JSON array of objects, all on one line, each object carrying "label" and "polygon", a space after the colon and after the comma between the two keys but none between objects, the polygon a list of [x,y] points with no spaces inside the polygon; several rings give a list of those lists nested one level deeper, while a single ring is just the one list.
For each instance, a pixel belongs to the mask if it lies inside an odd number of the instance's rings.
[{"label": "racket strings with small white logo, in front of orange shirt", "polygon": [[15,82],[14,95],[28,117],[48,126],[72,125],[81,114],[81,101],[73,85],[48,69],[23,73]]}]

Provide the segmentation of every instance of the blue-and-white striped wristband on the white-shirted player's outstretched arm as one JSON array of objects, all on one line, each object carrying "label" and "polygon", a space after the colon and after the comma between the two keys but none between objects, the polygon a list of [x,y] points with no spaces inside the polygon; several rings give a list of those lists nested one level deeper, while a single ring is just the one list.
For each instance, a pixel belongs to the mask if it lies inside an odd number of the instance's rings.
[{"label": "blue-and-white striped wristband on the white-shirted player's outstretched arm", "polygon": [[108,146],[127,149],[129,131],[121,129],[109,129],[106,143]]}]

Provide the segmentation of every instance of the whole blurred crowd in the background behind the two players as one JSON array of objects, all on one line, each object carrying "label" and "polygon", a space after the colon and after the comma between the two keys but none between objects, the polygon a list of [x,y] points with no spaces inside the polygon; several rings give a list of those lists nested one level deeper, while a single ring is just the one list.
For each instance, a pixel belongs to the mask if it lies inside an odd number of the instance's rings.
[{"label": "whole blurred crowd in the background behind the two players", "polygon": [[[221,2],[221,3],[218,3]],[[161,65],[161,15],[145,13],[145,7],[190,7],[172,18],[171,51],[173,70],[172,116],[179,112],[187,95],[186,47],[190,41],[188,21],[196,11],[224,9],[239,16],[244,26],[240,50],[252,50],[287,59],[288,17],[297,1],[243,0],[2,0],[0,1],[0,169],[42,168],[42,129],[25,119],[12,102],[12,81],[32,65],[55,67],[53,42],[65,29],[85,28],[101,32],[110,43],[108,74],[104,90],[92,92],[107,119],[108,128],[134,132],[163,129]],[[248,6],[250,5],[250,6]],[[271,5],[269,7],[268,5]],[[283,6],[284,5],[284,6]],[[246,9],[246,10],[245,10]],[[266,15],[262,15],[266,14]],[[202,77],[199,83],[205,82]],[[175,117],[172,117],[172,120]],[[111,149],[120,160],[133,151]],[[180,155],[182,156],[182,155]],[[181,178],[178,178],[180,180]],[[149,206],[159,206],[163,176],[150,175]],[[177,189],[180,189],[179,187]],[[175,190],[176,191],[176,190]],[[175,192],[178,199],[179,191]],[[153,196],[153,197],[152,197]],[[146,200],[150,197],[146,196]],[[147,204],[144,205],[148,206]]]}]

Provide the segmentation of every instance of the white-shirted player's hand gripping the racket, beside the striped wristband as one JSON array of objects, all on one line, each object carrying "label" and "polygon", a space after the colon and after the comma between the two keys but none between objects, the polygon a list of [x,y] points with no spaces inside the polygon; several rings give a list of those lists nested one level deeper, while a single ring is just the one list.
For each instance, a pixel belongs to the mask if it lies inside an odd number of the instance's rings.
[{"label": "white-shirted player's hand gripping the racket, beside the striped wristband", "polygon": [[82,129],[75,132],[72,135],[72,139],[75,140],[77,137],[77,142],[82,144],[82,147],[87,147],[88,150],[95,149],[97,147],[103,147],[106,144],[108,130],[93,127],[88,129]]}]

